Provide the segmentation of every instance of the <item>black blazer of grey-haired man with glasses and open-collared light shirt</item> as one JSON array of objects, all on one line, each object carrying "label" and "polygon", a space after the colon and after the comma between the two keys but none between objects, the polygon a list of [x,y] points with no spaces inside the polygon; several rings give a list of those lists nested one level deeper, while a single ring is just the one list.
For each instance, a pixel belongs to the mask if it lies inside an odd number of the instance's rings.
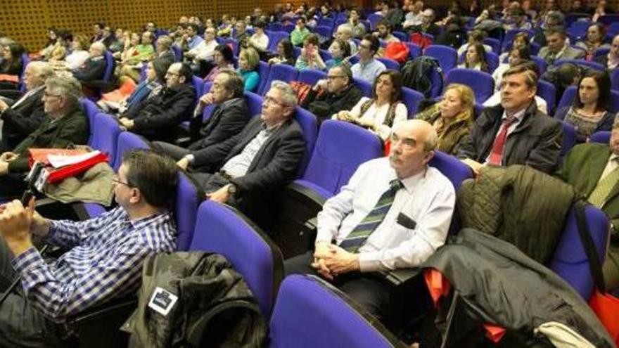
[{"label": "black blazer of grey-haired man with glasses and open-collared light shirt", "polygon": [[[243,151],[262,130],[263,124],[260,117],[254,117],[241,133],[196,152],[193,166],[207,166],[212,172],[218,172],[228,160]],[[305,138],[301,127],[296,120],[288,120],[258,150],[247,174],[231,181],[241,195],[244,192],[268,193],[277,190],[295,178],[304,155]]]}]

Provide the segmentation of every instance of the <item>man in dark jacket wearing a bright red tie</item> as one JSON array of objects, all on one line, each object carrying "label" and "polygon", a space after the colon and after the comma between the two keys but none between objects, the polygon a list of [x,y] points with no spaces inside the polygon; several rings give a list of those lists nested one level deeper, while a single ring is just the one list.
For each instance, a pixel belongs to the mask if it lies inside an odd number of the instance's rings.
[{"label": "man in dark jacket wearing a bright red tie", "polygon": [[563,143],[561,123],[537,110],[537,75],[523,65],[503,74],[501,104],[478,116],[458,155],[478,172],[483,165],[528,165],[551,173]]}]

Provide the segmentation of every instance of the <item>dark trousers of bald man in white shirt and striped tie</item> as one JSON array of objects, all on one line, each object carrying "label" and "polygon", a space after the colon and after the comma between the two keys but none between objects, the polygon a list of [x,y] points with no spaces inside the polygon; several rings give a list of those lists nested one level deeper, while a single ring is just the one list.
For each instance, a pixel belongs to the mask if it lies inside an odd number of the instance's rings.
[{"label": "dark trousers of bald man in white shirt and striped tie", "polygon": [[[291,274],[314,274],[316,269],[310,264],[314,261],[314,252],[307,252],[287,259],[283,263],[286,276]],[[337,276],[333,285],[351,297],[369,314],[383,321],[385,309],[389,305],[389,288],[387,283],[372,273],[351,272]]]}]

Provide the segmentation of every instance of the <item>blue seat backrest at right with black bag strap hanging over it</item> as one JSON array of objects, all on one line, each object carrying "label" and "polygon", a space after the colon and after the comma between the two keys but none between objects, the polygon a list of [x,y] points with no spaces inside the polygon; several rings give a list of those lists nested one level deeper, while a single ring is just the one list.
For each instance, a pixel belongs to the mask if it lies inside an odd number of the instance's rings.
[{"label": "blue seat backrest at right with black bag strap hanging over it", "polygon": [[[604,262],[608,240],[608,217],[593,205],[585,207],[585,216],[600,262]],[[585,301],[589,300],[594,283],[589,270],[589,258],[585,248],[582,247],[578,233],[574,208],[568,214],[565,228],[563,228],[561,239],[549,267],[572,285]]]}]

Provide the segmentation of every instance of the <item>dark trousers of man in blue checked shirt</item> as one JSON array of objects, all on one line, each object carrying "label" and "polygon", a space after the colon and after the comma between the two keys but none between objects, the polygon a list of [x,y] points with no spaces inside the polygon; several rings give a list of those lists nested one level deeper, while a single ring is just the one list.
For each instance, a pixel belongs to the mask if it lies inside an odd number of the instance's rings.
[{"label": "dark trousers of man in blue checked shirt", "polygon": [[[13,254],[0,238],[0,292],[4,293],[17,274]],[[59,347],[56,325],[34,309],[21,285],[0,304],[0,347]]]}]

